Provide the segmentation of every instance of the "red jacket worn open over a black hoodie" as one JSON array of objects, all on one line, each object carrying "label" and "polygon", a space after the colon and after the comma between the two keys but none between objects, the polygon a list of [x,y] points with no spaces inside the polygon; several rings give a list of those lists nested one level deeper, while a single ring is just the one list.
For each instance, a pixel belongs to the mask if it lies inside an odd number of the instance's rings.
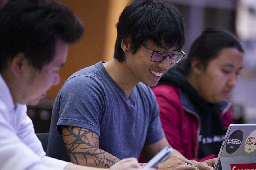
[{"label": "red jacket worn open over a black hoodie", "polygon": [[[198,158],[200,119],[195,112],[187,109],[181,103],[179,88],[163,84],[152,88],[152,90],[160,108],[159,116],[162,128],[170,145],[189,160],[202,162],[216,158],[215,154],[202,159]],[[229,102],[220,112],[223,126],[226,129],[229,124],[234,123],[230,105]]]}]

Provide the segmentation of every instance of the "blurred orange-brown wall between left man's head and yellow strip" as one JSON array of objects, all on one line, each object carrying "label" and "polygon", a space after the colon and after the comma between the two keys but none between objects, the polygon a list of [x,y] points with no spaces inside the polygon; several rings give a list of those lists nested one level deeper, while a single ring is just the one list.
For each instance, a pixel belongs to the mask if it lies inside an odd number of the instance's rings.
[{"label": "blurred orange-brown wall between left man's head and yellow strip", "polygon": [[47,92],[46,99],[55,100],[62,84],[76,71],[104,60],[104,38],[108,0],[59,0],[68,5],[82,20],[85,34],[69,46],[67,62],[60,70],[61,82]]}]

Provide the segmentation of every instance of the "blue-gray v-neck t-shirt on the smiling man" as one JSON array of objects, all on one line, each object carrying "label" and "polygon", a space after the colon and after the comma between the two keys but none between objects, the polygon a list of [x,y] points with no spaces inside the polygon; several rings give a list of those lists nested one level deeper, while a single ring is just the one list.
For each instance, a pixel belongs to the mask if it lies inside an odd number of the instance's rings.
[{"label": "blue-gray v-neck t-shirt on the smiling man", "polygon": [[[139,158],[144,145],[164,137],[156,97],[139,83],[127,99],[102,61],[68,78],[55,100],[47,155],[70,161],[60,125],[90,129],[100,149],[119,159]],[[56,129],[57,127],[57,129]]]}]

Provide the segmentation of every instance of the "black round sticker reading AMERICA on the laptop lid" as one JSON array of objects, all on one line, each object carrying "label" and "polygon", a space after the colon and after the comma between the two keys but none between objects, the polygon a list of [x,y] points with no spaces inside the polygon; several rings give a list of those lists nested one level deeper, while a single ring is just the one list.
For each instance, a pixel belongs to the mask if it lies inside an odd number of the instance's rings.
[{"label": "black round sticker reading AMERICA on the laptop lid", "polygon": [[241,130],[234,131],[228,138],[226,143],[226,151],[231,154],[235,152],[243,141],[243,132]]}]

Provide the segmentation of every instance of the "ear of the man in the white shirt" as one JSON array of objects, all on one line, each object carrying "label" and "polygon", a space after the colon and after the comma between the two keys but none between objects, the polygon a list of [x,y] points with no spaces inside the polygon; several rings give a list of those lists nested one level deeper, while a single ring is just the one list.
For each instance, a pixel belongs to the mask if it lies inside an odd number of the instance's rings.
[{"label": "ear of the man in the white shirt", "polygon": [[27,64],[28,64],[28,61],[25,57],[25,54],[22,52],[19,52],[14,56],[13,60],[11,61],[11,71],[16,77],[18,77],[22,73],[23,66]]}]

